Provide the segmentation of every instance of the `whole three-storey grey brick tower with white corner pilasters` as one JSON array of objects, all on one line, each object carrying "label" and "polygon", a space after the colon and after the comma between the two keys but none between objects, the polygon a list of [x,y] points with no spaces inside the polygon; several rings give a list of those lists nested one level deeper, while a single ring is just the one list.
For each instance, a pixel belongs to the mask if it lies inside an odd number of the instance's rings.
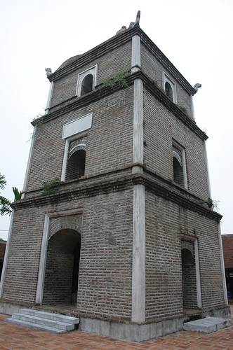
[{"label": "whole three-storey grey brick tower with white corner pilasters", "polygon": [[199,85],[139,15],[47,76],[13,204],[1,311],[70,311],[83,330],[132,340],[180,330],[193,314],[229,317],[207,136],[194,122]]}]

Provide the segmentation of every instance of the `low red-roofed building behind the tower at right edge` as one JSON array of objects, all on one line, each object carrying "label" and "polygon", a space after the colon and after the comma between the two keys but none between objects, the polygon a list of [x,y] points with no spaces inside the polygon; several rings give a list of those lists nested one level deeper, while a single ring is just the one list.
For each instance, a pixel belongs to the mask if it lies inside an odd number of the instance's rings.
[{"label": "low red-roofed building behind the tower at right edge", "polygon": [[233,235],[222,235],[222,248],[225,262],[227,295],[233,299]]}]

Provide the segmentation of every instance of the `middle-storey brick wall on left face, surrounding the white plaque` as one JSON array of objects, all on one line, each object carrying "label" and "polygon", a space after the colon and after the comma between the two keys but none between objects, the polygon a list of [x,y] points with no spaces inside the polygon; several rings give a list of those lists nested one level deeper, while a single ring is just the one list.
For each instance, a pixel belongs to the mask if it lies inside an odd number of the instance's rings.
[{"label": "middle-storey brick wall on left face, surrounding the white plaque", "polygon": [[62,126],[93,112],[88,130],[85,176],[109,172],[131,165],[133,158],[133,87],[39,125],[36,132],[28,190],[41,181],[60,178],[65,140]]}]

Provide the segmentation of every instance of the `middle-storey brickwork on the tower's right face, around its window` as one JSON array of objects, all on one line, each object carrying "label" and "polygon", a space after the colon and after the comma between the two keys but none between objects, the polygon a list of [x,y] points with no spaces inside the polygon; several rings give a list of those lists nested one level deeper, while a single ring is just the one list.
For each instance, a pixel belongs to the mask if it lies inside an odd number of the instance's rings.
[{"label": "middle-storey brickwork on the tower's right face, around its window", "polygon": [[173,113],[144,90],[145,165],[164,179],[173,181],[173,140],[185,148],[188,190],[207,200],[204,143]]}]

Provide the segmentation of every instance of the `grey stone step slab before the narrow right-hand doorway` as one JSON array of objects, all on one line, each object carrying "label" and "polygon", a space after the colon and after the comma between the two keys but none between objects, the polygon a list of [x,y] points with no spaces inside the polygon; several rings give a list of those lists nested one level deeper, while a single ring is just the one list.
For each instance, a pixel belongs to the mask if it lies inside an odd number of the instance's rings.
[{"label": "grey stone step slab before the narrow right-hand doorway", "polygon": [[183,329],[188,330],[189,332],[211,333],[229,327],[230,325],[232,325],[230,318],[205,317],[184,323]]}]

